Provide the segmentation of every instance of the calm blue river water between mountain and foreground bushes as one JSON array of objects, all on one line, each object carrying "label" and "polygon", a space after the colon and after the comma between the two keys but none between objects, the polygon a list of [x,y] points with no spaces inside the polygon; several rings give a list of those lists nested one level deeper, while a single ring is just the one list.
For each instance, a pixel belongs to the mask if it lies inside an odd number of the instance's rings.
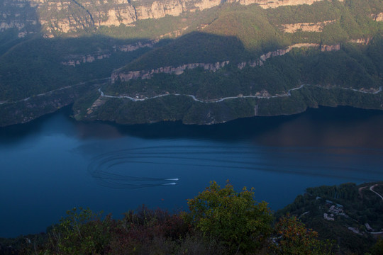
[{"label": "calm blue river water between mountain and foreground bushes", "polygon": [[[273,210],[311,186],[383,180],[383,112],[319,108],[210,126],[76,123],[69,110],[0,128],[0,237],[66,210],[182,210],[216,180]],[[175,184],[175,185],[174,185]]]}]

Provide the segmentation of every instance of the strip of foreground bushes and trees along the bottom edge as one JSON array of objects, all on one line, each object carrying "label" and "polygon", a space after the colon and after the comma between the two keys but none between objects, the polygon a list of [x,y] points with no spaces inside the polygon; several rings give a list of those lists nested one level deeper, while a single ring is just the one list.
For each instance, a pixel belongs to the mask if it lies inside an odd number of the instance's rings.
[{"label": "strip of foreground bushes and trees along the bottom edge", "polygon": [[189,212],[175,214],[143,206],[121,220],[74,208],[45,240],[21,241],[4,254],[333,254],[295,217],[273,226],[267,203],[257,203],[246,188],[237,192],[230,183],[221,188],[212,182],[188,205]]}]

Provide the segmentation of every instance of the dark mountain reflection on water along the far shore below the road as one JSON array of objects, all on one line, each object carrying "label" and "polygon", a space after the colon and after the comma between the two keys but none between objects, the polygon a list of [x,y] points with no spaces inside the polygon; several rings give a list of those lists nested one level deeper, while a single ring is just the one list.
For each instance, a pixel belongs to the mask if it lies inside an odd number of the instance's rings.
[{"label": "dark mountain reflection on water along the far shore below the road", "polygon": [[148,125],[77,124],[79,135],[121,137],[133,135],[149,139],[192,138],[218,141],[252,140],[265,146],[378,147],[383,136],[383,113],[356,108],[309,109],[299,115],[258,117],[234,120],[218,125]]}]

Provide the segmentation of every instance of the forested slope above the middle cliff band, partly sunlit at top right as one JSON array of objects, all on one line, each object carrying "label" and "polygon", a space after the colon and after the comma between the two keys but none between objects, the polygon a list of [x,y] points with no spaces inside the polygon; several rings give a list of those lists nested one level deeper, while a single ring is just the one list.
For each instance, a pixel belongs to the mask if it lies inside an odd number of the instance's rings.
[{"label": "forested slope above the middle cliff band, partly sunlit at top right", "polygon": [[[201,30],[206,33],[204,38],[201,38],[200,34],[185,35],[170,45],[148,52],[128,64],[126,69],[177,66],[201,59],[205,63],[248,60],[264,52],[282,49],[295,43],[316,42],[333,45],[357,38],[370,38],[382,34],[383,23],[370,18],[372,13],[382,11],[382,1],[364,0],[344,3],[321,1],[311,6],[282,6],[267,10],[257,5],[228,4],[217,10],[204,11],[206,15],[216,16],[209,26]],[[320,33],[299,30],[296,33],[283,33],[280,29],[281,24],[321,21],[333,23],[325,26]],[[213,35],[220,37],[215,38]]]}]

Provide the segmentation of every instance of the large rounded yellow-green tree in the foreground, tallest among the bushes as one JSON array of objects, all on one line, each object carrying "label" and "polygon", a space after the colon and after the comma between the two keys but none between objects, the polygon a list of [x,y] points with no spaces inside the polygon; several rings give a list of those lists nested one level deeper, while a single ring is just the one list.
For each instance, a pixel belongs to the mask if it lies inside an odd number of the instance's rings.
[{"label": "large rounded yellow-green tree in the foreground, tallest among the bushes", "polygon": [[272,215],[267,203],[257,203],[246,187],[234,191],[230,183],[221,188],[215,181],[188,201],[188,220],[204,237],[219,242],[229,253],[260,249],[271,234]]}]

